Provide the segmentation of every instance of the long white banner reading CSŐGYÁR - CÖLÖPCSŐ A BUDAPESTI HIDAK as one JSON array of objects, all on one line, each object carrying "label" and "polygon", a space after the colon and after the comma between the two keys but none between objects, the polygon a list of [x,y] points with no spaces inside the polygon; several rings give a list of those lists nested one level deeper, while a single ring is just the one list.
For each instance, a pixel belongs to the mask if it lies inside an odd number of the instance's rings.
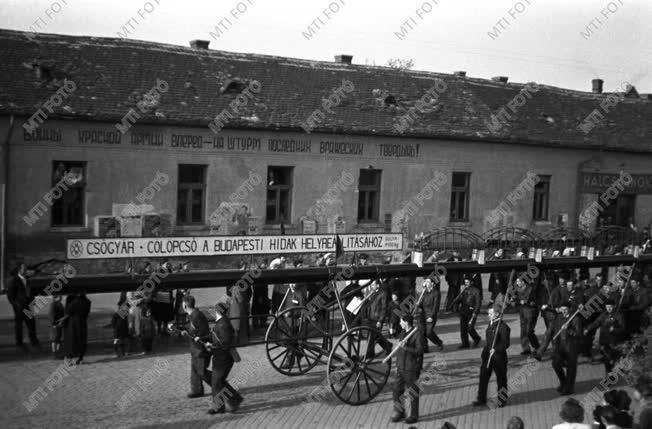
[{"label": "long white banner reading CS\u0150GY\u00c1R - C\u00d6L\u00d6PCS\u0150 A BUDAPESTI HIDAK", "polygon": [[[342,234],[344,251],[403,249],[401,234]],[[84,238],[66,242],[68,259],[265,255],[335,251],[335,235]]]}]

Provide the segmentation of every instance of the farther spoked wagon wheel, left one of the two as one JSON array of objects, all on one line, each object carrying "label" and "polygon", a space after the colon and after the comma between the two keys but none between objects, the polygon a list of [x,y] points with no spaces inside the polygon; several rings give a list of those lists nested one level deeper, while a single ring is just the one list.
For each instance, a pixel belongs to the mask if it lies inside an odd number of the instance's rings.
[{"label": "farther spoked wagon wheel, left one of the two", "polygon": [[265,334],[267,359],[281,374],[295,376],[323,362],[330,338],[306,307],[291,307],[274,318]]}]

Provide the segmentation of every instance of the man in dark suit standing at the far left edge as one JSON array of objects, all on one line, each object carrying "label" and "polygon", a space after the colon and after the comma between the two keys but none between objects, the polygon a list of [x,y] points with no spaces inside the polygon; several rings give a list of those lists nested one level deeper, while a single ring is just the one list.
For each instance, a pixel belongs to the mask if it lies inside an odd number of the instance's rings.
[{"label": "man in dark suit standing at the far left edge", "polygon": [[30,304],[34,297],[31,294],[29,282],[27,280],[27,267],[20,262],[14,270],[7,287],[7,299],[14,309],[14,334],[16,336],[16,345],[23,346],[23,322],[27,326],[27,335],[33,346],[38,346],[36,338],[36,320],[30,310]]}]

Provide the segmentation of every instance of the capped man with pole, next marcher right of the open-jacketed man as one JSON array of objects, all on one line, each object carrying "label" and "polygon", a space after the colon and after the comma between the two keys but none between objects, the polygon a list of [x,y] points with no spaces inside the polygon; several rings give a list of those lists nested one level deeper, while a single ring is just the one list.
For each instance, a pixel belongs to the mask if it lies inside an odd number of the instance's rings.
[{"label": "capped man with pole, next marcher right of the open-jacketed man", "polygon": [[[580,340],[582,338],[581,316],[575,315],[571,319],[570,302],[562,302],[559,307],[559,314],[543,338],[543,344],[533,356],[541,360],[548,345],[552,341],[552,368],[559,378],[557,392],[562,396],[572,395],[575,391],[575,376],[577,375],[577,354],[579,352]],[[559,335],[557,335],[559,333]],[[555,338],[556,336],[556,338]],[[553,341],[553,338],[554,341]],[[565,368],[565,370],[564,370]]]}]

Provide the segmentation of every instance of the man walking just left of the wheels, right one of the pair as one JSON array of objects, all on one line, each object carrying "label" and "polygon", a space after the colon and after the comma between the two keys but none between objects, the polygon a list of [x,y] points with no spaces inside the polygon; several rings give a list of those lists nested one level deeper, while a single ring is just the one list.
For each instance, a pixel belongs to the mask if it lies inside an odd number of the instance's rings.
[{"label": "man walking just left of the wheels, right one of the pair", "polygon": [[[228,308],[226,304],[218,303],[215,306],[216,323],[211,330],[209,348],[213,354],[213,371],[211,374],[211,394],[213,406],[208,414],[221,414],[226,411],[235,412],[244,401],[244,398],[229,382],[227,377],[233,368],[234,359],[232,349],[235,347],[235,331],[229,318],[226,317]],[[210,372],[209,372],[210,373]]]}]

